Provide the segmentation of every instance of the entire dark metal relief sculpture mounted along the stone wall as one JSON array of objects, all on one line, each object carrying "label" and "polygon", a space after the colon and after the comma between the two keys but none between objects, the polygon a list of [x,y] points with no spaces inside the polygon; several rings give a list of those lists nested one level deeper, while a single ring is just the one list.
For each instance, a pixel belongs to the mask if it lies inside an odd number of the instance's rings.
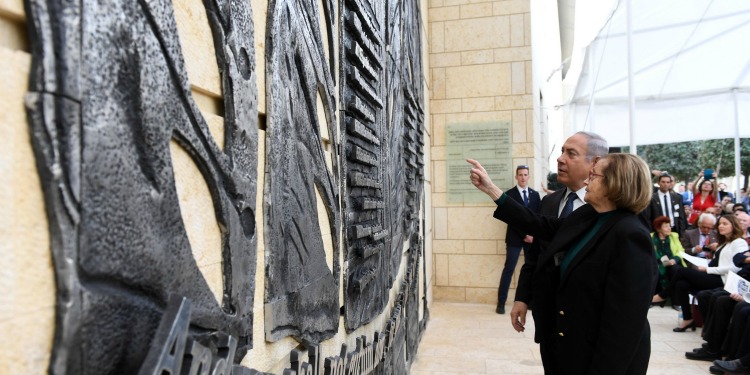
[{"label": "entire dark metal relief sculpture mounted along the stone wall", "polygon": [[[49,373],[252,374],[243,358],[281,340],[298,343],[290,373],[408,373],[429,317],[420,4],[271,0],[265,25],[251,4],[202,3],[217,132],[171,1],[25,0]],[[218,279],[186,225],[178,154],[210,195]]]}]

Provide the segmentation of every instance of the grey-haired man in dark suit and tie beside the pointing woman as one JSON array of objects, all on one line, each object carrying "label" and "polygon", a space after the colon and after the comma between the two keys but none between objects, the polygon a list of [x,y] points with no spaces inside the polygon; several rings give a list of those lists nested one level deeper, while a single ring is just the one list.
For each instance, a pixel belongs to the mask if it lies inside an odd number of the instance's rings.
[{"label": "grey-haired man in dark suit and tie beside the pointing woman", "polygon": [[[540,205],[540,213],[545,216],[567,217],[572,211],[586,204],[583,200],[586,195],[584,181],[588,179],[589,172],[602,156],[609,151],[607,141],[601,136],[578,132],[570,136],[562,146],[562,155],[557,158],[557,181],[565,186],[554,193],[545,196]],[[550,244],[547,241],[534,241],[524,257],[525,262],[521,267],[516,287],[516,298],[513,309],[510,312],[511,324],[515,327],[526,324],[526,313],[533,301],[532,279],[539,260],[539,254],[546,252]],[[540,301],[549,304],[551,301]],[[535,314],[532,309],[532,314]],[[538,320],[535,316],[535,321]],[[542,318],[542,317],[540,317]],[[539,343],[539,351],[545,369],[555,366],[554,340],[542,337],[537,330],[534,341]]]}]

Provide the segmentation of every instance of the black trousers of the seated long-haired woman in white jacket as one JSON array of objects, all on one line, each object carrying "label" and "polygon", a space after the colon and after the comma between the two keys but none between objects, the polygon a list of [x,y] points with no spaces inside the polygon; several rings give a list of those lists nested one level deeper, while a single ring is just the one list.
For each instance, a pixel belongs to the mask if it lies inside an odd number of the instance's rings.
[{"label": "black trousers of the seated long-haired woman in white jacket", "polygon": [[700,272],[695,268],[679,268],[676,271],[667,287],[659,293],[659,297],[674,296],[682,306],[683,318],[691,320],[693,319],[693,312],[690,311],[689,294],[700,290],[719,288],[724,285],[724,282],[719,275]]}]

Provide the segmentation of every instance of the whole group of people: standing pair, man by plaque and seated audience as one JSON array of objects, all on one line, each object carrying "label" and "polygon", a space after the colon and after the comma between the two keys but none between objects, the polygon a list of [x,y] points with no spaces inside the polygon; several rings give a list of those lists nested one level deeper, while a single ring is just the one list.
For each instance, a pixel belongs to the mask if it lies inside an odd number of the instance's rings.
[{"label": "whole group of people: standing pair, man by plaque and seated audience", "polygon": [[504,192],[467,159],[471,183],[513,233],[496,311],[505,313],[506,276],[523,250],[511,324],[523,332],[531,311],[545,374],[645,374],[648,310],[667,302],[684,318],[675,332],[703,322],[705,342],[687,358],[713,361],[711,373],[750,374],[750,303],[724,290],[732,273],[750,277],[745,191],[734,197],[713,170],[675,191],[669,173],[608,153],[594,133],[575,133],[561,151],[562,187],[542,187],[547,195],[533,204],[528,166],[516,168],[518,185]]}]

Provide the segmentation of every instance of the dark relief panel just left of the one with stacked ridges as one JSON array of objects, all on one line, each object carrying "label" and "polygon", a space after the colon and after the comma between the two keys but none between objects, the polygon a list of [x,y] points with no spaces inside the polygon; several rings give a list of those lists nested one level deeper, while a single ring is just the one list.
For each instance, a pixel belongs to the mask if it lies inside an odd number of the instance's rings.
[{"label": "dark relief panel just left of the one with stacked ridges", "polygon": [[[320,342],[338,329],[341,218],[335,173],[336,103],[319,29],[324,16],[327,35],[335,35],[333,12],[331,3],[318,9],[318,2],[312,0],[276,0],[269,5],[264,192],[269,341],[293,335]],[[328,131],[332,143],[333,171],[326,166],[321,128]],[[330,231],[332,238],[333,269],[326,263],[316,194],[330,223],[323,230]]]}]

